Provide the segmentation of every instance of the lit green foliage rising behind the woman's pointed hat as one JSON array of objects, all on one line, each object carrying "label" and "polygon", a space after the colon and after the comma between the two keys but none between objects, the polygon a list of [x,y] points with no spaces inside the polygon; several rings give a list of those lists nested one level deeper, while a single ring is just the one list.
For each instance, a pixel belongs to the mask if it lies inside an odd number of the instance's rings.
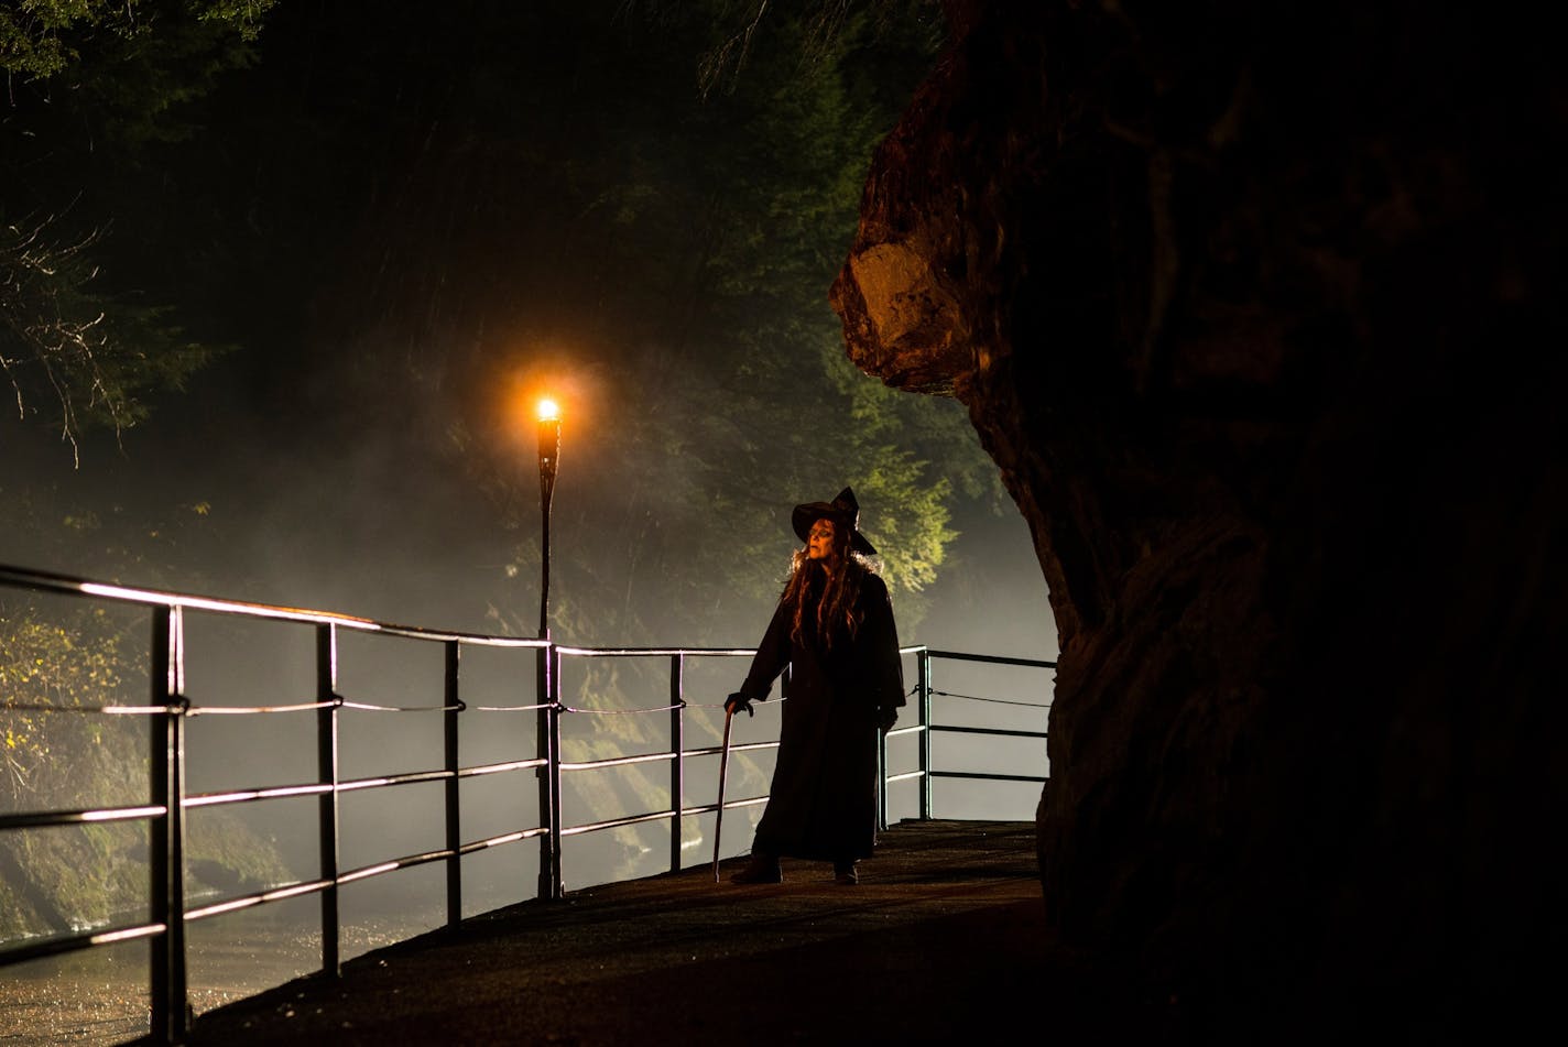
[{"label": "lit green foliage rising behind the woman's pointed hat", "polygon": [[[897,393],[853,368],[826,287],[855,230],[872,147],[931,41],[913,20],[902,39],[878,38],[869,9],[845,13],[823,36],[815,16],[753,36],[745,69],[698,114],[739,129],[706,169],[713,207],[688,337],[709,381],[666,382],[662,395],[679,406],[663,417],[679,422],[646,442],[679,447],[670,429],[707,420],[691,456],[720,461],[699,473],[688,505],[720,509],[702,514],[732,555],[715,581],[753,599],[778,592],[795,541],[789,506],[855,486],[913,629],[922,613],[913,597],[956,536],[950,475],[977,472],[974,440],[930,439],[952,431],[955,404]],[[900,49],[903,85],[861,80],[866,53]]]}]

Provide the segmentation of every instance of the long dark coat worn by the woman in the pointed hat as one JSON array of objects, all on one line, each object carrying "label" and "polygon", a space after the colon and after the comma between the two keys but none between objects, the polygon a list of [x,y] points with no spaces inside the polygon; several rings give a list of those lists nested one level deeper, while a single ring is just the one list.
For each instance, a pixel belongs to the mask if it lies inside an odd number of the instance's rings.
[{"label": "long dark coat worn by the woman in the pointed hat", "polygon": [[[820,596],[820,583],[809,586],[808,607]],[[844,862],[869,857],[877,843],[877,723],[903,705],[903,666],[887,586],[870,572],[856,611],[855,636],[840,622],[831,646],[814,635],[792,641],[793,608],[779,600],[740,685],[748,699],[765,701],[789,666],[773,787],[753,851]]]}]

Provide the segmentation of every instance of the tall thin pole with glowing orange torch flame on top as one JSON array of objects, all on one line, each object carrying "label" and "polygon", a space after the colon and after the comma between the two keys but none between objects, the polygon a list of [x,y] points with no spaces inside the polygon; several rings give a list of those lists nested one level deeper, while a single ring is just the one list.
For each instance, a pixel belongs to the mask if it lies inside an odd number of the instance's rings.
[{"label": "tall thin pole with glowing orange torch flame on top", "polygon": [[[539,639],[550,638],[550,497],[561,456],[561,415],[552,400],[539,401]],[[539,649],[539,719],[536,727],[539,768],[539,813],[549,832],[539,837],[539,897],[560,898],[561,889],[561,771],[560,710],[555,705],[555,649]]]}]

